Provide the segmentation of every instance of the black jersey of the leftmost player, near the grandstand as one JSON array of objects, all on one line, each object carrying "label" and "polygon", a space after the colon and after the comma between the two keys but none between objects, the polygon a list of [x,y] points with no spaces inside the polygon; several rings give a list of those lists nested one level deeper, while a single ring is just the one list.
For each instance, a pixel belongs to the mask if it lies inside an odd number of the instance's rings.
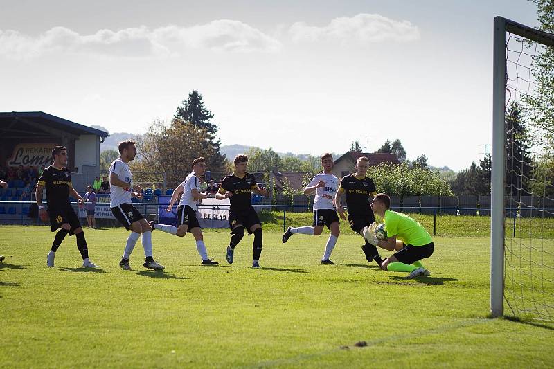
[{"label": "black jersey of the leftmost player, near the grandstand", "polygon": [[69,169],[57,169],[54,168],[54,165],[50,165],[42,172],[38,184],[46,189],[48,208],[66,208],[71,206],[69,192],[72,185]]}]

